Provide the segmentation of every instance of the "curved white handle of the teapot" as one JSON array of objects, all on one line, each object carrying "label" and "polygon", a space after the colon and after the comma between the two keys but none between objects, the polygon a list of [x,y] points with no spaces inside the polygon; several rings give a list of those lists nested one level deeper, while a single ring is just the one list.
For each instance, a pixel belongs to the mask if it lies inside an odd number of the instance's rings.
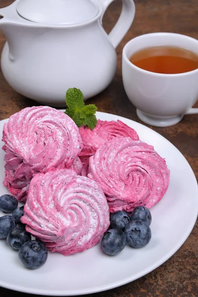
[{"label": "curved white handle of the teapot", "polygon": [[[99,1],[101,2],[104,9],[103,14],[101,16],[101,20],[102,20],[102,17],[104,15],[106,8],[114,0],[99,0]],[[120,17],[117,23],[115,24],[115,26],[113,27],[113,29],[108,35],[114,48],[116,48],[119,45],[119,43],[124,38],[127,31],[129,30],[134,20],[135,11],[136,11],[136,8],[133,0],[122,0],[122,12],[120,14]]]}]

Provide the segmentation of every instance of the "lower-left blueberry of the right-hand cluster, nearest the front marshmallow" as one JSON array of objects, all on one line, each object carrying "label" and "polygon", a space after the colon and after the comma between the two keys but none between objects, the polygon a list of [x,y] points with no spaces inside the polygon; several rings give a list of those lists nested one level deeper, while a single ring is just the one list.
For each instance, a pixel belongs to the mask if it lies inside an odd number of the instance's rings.
[{"label": "lower-left blueberry of the right-hand cluster, nearest the front marshmallow", "polygon": [[110,229],[103,234],[101,247],[111,256],[117,255],[126,246],[126,236],[120,229]]}]

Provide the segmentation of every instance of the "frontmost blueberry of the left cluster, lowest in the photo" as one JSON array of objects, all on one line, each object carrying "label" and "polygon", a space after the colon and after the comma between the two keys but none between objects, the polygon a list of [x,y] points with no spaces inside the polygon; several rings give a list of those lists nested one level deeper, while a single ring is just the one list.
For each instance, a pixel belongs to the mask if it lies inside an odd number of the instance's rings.
[{"label": "frontmost blueberry of the left cluster, lowest in the photo", "polygon": [[18,255],[25,267],[36,269],[46,263],[48,250],[41,241],[31,240],[19,249]]}]

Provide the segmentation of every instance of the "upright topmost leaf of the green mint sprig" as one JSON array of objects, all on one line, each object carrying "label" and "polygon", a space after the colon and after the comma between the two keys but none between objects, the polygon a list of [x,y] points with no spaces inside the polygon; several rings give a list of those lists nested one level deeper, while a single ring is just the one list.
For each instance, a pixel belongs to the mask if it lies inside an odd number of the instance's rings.
[{"label": "upright topmost leaf of the green mint sprig", "polygon": [[81,90],[76,88],[68,89],[66,93],[66,104],[68,108],[74,113],[83,108],[85,106],[85,103]]}]

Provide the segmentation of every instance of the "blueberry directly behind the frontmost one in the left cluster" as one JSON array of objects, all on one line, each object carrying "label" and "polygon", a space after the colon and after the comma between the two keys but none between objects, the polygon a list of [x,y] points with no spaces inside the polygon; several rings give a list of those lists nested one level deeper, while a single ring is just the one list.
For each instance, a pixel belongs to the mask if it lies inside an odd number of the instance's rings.
[{"label": "blueberry directly behind the frontmost one in the left cluster", "polygon": [[31,234],[27,232],[24,227],[17,226],[8,233],[6,242],[8,246],[15,250],[19,250],[24,243],[30,241],[31,239]]}]

